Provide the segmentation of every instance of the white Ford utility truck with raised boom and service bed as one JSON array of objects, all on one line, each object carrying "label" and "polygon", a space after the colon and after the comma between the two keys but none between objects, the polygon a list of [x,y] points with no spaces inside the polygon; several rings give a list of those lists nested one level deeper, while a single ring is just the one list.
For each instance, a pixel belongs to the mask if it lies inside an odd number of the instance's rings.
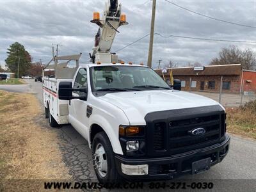
[{"label": "white Ford utility truck with raised boom and service bed", "polygon": [[52,127],[71,124],[88,141],[99,181],[173,179],[220,163],[230,144],[223,106],[181,92],[179,81],[170,87],[147,66],[117,63],[111,45],[127,24],[117,0],[92,22],[100,26],[92,63],[79,65],[81,54],[53,56],[43,86],[45,117]]}]

